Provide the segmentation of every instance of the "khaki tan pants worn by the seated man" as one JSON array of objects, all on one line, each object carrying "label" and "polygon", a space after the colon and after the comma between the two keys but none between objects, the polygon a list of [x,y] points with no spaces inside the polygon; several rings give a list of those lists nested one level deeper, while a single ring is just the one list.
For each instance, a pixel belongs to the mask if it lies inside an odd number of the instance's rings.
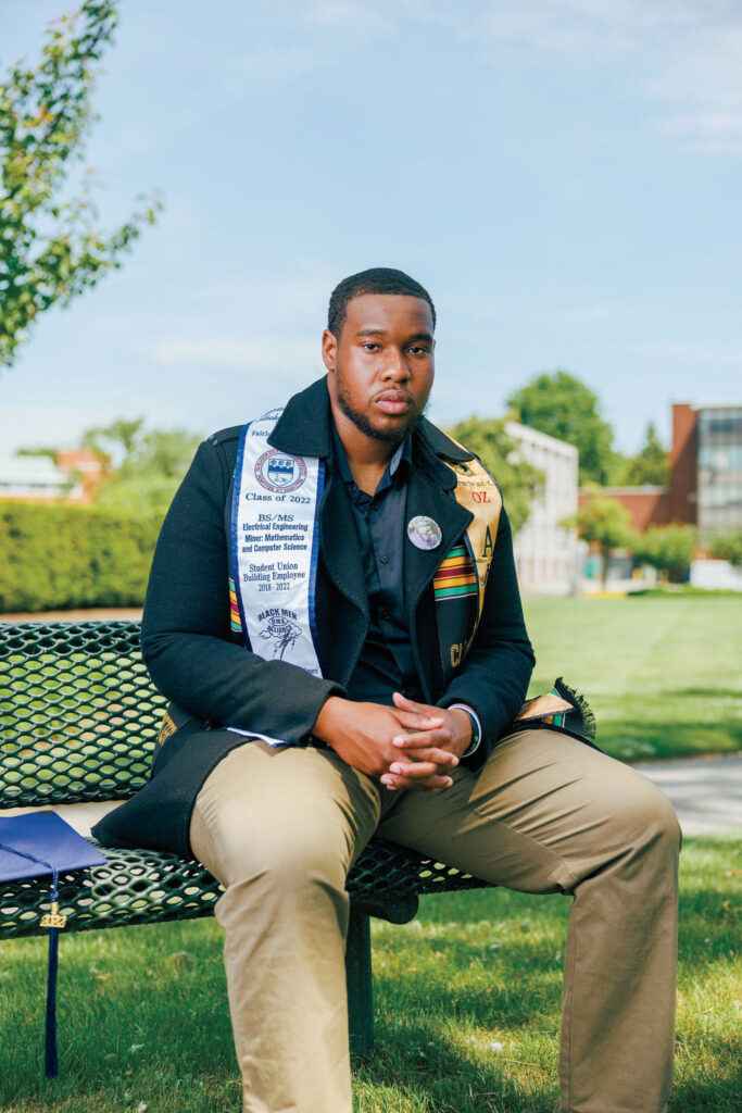
[{"label": "khaki tan pants worn by the seated man", "polygon": [[[245,1113],[350,1113],[346,874],[385,838],[526,893],[574,895],[562,1113],[660,1113],[672,1077],[680,829],[641,774],[523,730],[441,792],[390,792],[333,751],[233,750],[198,795]],[[496,1017],[493,1016],[493,1024]]]}]

